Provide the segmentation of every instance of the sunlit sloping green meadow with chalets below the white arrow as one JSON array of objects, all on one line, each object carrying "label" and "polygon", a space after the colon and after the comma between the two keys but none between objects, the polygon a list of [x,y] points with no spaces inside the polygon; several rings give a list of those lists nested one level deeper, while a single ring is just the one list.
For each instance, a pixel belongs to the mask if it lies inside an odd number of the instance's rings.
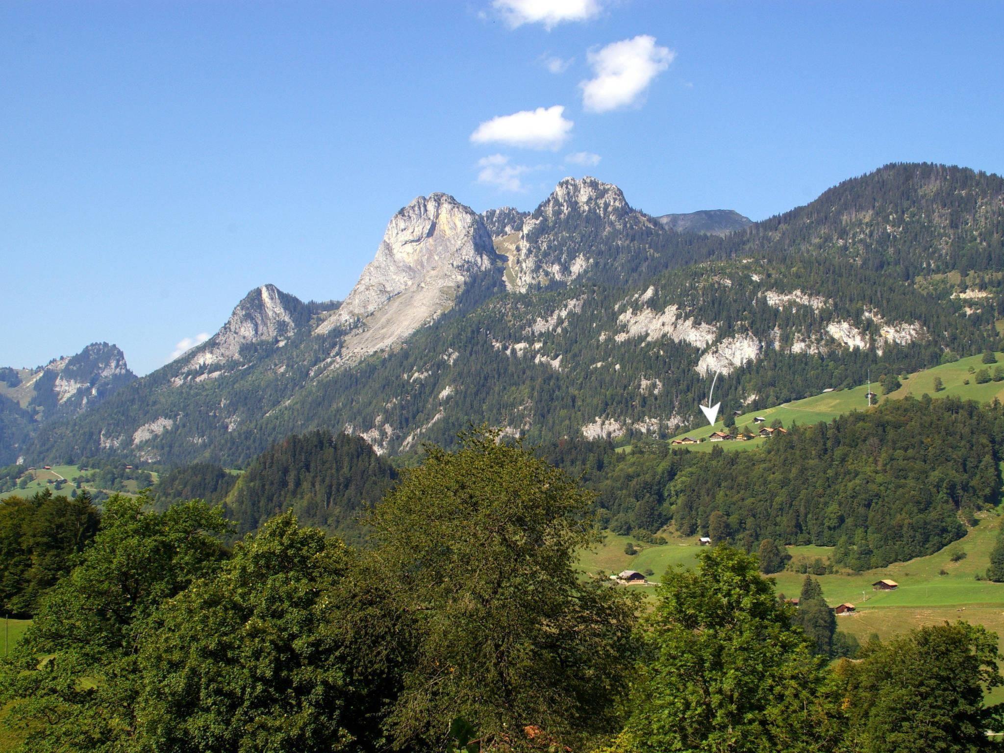
[{"label": "sunlit sloping green meadow with chalets below the white arrow", "polygon": [[[999,352],[996,355],[1000,364],[1004,366],[1004,352]],[[899,390],[888,396],[880,395],[875,400],[875,404],[887,400],[906,398],[908,395],[920,398],[925,393],[932,398],[954,396],[963,400],[976,400],[981,403],[990,403],[994,398],[1004,401],[1004,382],[988,382],[985,385],[977,385],[975,373],[970,373],[969,370],[970,368],[973,371],[978,371],[981,368],[989,368],[992,372],[994,365],[983,363],[982,355],[972,355],[960,358],[954,363],[945,363],[933,366],[932,368],[926,368],[907,375],[906,379],[902,380],[903,386]],[[936,376],[941,378],[944,385],[944,389],[938,393],[935,392],[934,388]],[[965,384],[967,381],[969,382],[968,385]],[[736,427],[743,429],[749,426],[752,432],[756,432],[759,427],[753,423],[753,419],[757,417],[766,420],[763,426],[770,426],[771,423],[779,420],[785,428],[796,423],[803,425],[818,424],[820,421],[829,422],[837,416],[849,413],[850,411],[866,411],[868,407],[867,392],[868,386],[861,385],[851,390],[823,393],[821,395],[814,395],[811,398],[804,398],[775,406],[774,408],[751,411],[736,417]],[[877,382],[871,384],[871,392],[876,394],[882,392]],[[710,437],[712,432],[721,431],[724,425],[719,421],[714,426],[704,426],[700,429],[684,432],[674,437],[674,439],[693,437],[700,440]],[[679,445],[679,447],[697,452],[710,452],[712,447],[721,447],[723,450],[737,452],[763,447],[763,443],[766,441],[756,439],[750,442],[716,442],[714,445],[704,442],[700,445]]]}]

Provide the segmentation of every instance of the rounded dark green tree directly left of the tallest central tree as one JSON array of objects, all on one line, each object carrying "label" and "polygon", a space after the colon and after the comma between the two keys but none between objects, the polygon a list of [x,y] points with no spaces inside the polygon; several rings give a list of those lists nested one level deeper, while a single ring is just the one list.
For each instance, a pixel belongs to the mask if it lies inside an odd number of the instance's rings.
[{"label": "rounded dark green tree directly left of the tallest central tree", "polygon": [[373,660],[395,625],[386,611],[365,622],[353,593],[373,589],[356,567],[343,543],[286,513],[166,603],[140,654],[143,747],[376,749],[394,665]]}]

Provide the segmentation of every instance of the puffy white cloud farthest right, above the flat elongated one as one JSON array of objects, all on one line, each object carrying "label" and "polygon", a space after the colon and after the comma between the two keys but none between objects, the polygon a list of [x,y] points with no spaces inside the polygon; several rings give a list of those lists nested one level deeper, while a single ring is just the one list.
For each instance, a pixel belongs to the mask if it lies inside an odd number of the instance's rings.
[{"label": "puffy white cloud farthest right, above the flat elongated one", "polygon": [[643,34],[612,42],[588,53],[594,78],[582,81],[582,106],[593,112],[626,107],[637,103],[652,83],[666,70],[676,52],[656,45],[656,38]]}]

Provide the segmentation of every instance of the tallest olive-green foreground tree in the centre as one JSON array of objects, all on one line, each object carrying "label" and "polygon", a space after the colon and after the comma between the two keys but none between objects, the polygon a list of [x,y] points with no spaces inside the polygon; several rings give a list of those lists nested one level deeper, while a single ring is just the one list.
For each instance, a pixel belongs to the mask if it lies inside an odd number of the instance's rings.
[{"label": "tallest olive-green foreground tree in the centre", "polygon": [[462,439],[428,446],[370,520],[376,569],[418,630],[395,743],[443,744],[456,718],[515,749],[615,731],[636,601],[575,569],[596,541],[590,496],[497,433]]}]

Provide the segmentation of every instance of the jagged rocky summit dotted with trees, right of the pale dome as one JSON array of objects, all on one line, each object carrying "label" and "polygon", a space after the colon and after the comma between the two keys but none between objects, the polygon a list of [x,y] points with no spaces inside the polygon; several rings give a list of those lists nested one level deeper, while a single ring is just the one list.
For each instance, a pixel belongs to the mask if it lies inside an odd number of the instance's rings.
[{"label": "jagged rocky summit dotted with trees, right of the pale dome", "polygon": [[506,276],[510,287],[525,291],[536,285],[572,280],[604,254],[616,254],[619,240],[638,230],[658,231],[648,215],[632,209],[616,186],[595,178],[565,178],[523,220],[511,245]]}]

